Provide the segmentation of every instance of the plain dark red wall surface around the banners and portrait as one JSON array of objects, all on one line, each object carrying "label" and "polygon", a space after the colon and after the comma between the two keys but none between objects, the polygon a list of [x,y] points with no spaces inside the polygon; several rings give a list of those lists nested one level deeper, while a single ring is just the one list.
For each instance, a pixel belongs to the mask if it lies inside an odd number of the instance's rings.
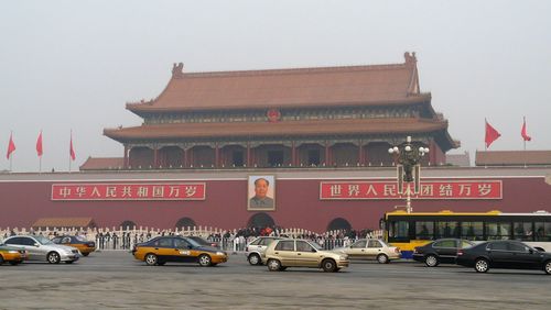
[{"label": "plain dark red wall surface around the banners and portrait", "polygon": [[[320,200],[322,180],[277,180],[277,210],[267,213],[283,228],[324,232],[332,220],[344,218],[354,229],[377,229],[385,212],[404,204],[400,200]],[[99,226],[130,220],[142,226],[172,229],[179,219],[188,217],[197,225],[238,229],[257,213],[247,211],[247,180],[205,182],[204,201],[52,201],[54,181],[2,181],[0,228],[29,228],[39,218],[90,217]],[[501,200],[413,200],[412,206],[414,211],[551,211],[551,186],[543,177],[503,178],[503,192]]]}]

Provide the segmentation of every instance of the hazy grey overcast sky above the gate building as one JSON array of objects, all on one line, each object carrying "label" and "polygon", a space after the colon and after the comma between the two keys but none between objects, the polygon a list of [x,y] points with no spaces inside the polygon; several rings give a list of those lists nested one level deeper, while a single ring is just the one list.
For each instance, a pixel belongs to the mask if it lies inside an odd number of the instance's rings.
[{"label": "hazy grey overcast sky above the gate building", "polygon": [[551,1],[1,1],[0,170],[122,156],[104,128],[139,125],[127,101],[185,71],[393,64],[418,55],[422,91],[472,158],[484,118],[490,150],[551,147]]}]

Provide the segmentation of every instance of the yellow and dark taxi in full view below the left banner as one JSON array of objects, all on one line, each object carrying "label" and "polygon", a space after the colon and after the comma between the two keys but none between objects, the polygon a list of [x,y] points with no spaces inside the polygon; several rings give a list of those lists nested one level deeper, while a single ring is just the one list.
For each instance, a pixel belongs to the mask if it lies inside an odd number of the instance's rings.
[{"label": "yellow and dark taxi in full view below the left banner", "polygon": [[212,246],[203,246],[185,236],[158,236],[139,243],[132,248],[136,259],[149,266],[174,263],[198,263],[199,266],[216,266],[228,261],[226,252]]}]

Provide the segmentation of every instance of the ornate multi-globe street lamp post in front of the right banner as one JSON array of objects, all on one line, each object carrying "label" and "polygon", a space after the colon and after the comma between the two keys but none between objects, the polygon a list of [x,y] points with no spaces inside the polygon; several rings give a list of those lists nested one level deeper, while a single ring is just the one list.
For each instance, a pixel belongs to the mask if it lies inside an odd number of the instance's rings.
[{"label": "ornate multi-globe street lamp post in front of the right banner", "polygon": [[402,193],[400,189],[406,188],[406,211],[411,213],[413,208],[411,208],[410,184],[415,181],[414,191],[418,192],[421,185],[421,165],[419,163],[424,154],[429,153],[429,148],[422,146],[419,148],[413,147],[411,136],[408,135],[406,143],[402,143],[400,146],[390,147],[388,153],[393,154],[395,160],[398,162],[396,166],[398,170],[398,192]]}]

